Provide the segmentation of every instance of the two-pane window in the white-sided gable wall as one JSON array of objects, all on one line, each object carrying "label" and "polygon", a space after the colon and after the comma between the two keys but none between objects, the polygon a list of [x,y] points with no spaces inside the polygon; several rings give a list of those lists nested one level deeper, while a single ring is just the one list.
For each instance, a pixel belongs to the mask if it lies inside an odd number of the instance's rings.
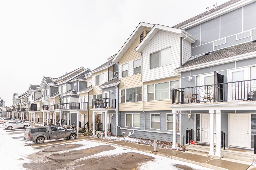
[{"label": "two-pane window in the white-sided gable wall", "polygon": [[171,63],[171,47],[150,55],[150,69],[166,66]]}]

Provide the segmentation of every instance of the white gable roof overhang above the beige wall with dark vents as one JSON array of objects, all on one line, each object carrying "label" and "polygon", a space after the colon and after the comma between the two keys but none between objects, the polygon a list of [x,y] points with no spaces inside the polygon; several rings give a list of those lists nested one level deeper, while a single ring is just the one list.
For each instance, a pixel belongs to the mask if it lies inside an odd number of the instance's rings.
[{"label": "white gable roof overhang above the beige wall with dark vents", "polygon": [[121,49],[118,51],[118,53],[115,55],[115,57],[113,58],[113,62],[117,63],[120,60],[120,58],[124,55],[127,49],[132,45],[135,39],[141,34],[144,28],[152,28],[152,27],[154,27],[154,24],[140,22],[138,26],[135,28],[135,30],[132,32],[130,37],[126,40],[124,45],[121,47]]}]

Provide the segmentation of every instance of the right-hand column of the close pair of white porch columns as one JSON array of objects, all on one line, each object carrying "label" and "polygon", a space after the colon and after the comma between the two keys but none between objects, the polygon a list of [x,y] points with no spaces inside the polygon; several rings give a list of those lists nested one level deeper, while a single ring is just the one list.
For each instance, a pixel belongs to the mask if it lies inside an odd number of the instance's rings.
[{"label": "right-hand column of the close pair of white porch columns", "polygon": [[221,132],[220,132],[220,125],[221,125],[221,110],[216,110],[216,156],[221,157],[220,147],[221,147]]}]

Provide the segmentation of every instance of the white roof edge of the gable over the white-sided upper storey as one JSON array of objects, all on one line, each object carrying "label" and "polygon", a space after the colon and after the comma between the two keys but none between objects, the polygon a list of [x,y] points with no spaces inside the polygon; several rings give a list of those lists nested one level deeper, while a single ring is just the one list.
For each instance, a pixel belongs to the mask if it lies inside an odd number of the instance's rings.
[{"label": "white roof edge of the gable over the white-sided upper storey", "polygon": [[169,32],[169,33],[173,33],[173,34],[177,34],[177,35],[181,35],[182,37],[185,37],[186,35],[188,35],[187,41],[190,42],[190,43],[195,43],[196,40],[197,40],[195,37],[193,37],[192,35],[190,35],[188,32],[186,32],[184,30],[168,27],[168,26],[165,26],[165,25],[155,24],[154,27],[150,30],[150,32],[145,36],[145,38],[135,48],[135,51],[138,52],[138,53],[141,53],[142,50],[147,46],[147,44],[154,38],[154,36],[160,30],[165,31],[165,32]]}]

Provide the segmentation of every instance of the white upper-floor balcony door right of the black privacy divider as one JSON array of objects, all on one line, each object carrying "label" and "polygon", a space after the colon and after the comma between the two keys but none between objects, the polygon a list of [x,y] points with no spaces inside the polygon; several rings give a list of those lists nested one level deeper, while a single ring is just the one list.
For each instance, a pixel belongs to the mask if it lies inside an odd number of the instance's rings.
[{"label": "white upper-floor balcony door right of the black privacy divider", "polygon": [[248,94],[248,86],[250,82],[238,82],[249,80],[249,68],[241,68],[228,71],[228,82],[236,82],[228,85],[228,100],[242,100]]}]

